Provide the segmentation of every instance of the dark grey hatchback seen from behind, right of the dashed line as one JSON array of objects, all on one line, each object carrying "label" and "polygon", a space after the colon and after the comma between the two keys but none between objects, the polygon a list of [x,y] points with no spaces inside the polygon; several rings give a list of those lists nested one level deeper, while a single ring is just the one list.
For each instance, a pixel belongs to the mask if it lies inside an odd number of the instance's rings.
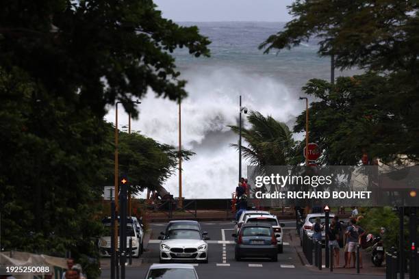
[{"label": "dark grey hatchback seen from behind, right of the dashed line", "polygon": [[231,236],[236,241],[236,261],[242,258],[270,258],[272,261],[278,261],[277,238],[270,224],[243,224],[238,235],[233,233]]}]

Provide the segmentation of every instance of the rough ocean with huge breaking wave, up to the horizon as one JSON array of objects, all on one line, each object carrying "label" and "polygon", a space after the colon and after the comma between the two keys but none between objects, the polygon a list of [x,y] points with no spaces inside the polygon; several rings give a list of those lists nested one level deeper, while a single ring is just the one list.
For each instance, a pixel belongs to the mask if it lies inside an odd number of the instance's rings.
[{"label": "rough ocean with huge breaking wave, up to the horizon", "polygon": [[[313,78],[330,79],[330,57],[319,57],[318,40],[304,42],[290,51],[264,54],[257,47],[285,23],[217,22],[179,23],[196,25],[212,41],[211,57],[193,57],[187,49],[174,55],[181,78],[188,81],[188,98],[182,107],[182,147],[196,152],[183,162],[182,188],[185,198],[230,198],[238,183],[238,151],[230,144],[238,135],[227,125],[238,124],[239,96],[242,105],[285,122],[290,128],[305,109],[301,87]],[[357,70],[335,71],[335,77]],[[136,131],[158,142],[178,146],[177,104],[155,98],[149,92],[142,99]],[[244,115],[245,116],[245,115]],[[107,120],[114,121],[110,109]],[[120,127],[127,116],[120,114]],[[248,124],[244,120],[244,126]],[[301,139],[302,135],[294,135]],[[245,144],[245,142],[243,142]],[[242,174],[246,176],[246,161]],[[178,177],[164,187],[178,196]],[[141,195],[142,196],[142,195]]]}]

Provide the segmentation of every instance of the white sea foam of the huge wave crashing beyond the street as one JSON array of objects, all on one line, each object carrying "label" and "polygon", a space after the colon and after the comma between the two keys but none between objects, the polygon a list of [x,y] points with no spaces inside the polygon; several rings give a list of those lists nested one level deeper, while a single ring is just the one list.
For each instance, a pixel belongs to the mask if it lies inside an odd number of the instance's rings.
[{"label": "white sea foam of the huge wave crashing beyond the street", "polygon": [[[303,109],[281,81],[273,77],[245,72],[246,69],[200,66],[183,70],[188,80],[188,98],[182,103],[182,146],[196,155],[183,163],[183,196],[187,198],[228,198],[238,181],[238,152],[229,146],[238,141],[227,125],[238,123],[238,101],[249,110],[257,110],[287,122]],[[120,127],[127,116],[120,114]],[[107,120],[114,121],[114,111]],[[158,142],[178,144],[177,103],[155,98],[149,92],[140,105],[140,118],[132,129]],[[245,124],[246,125],[246,124]],[[242,163],[246,174],[246,161]],[[172,176],[165,187],[177,196],[178,178]]]}]

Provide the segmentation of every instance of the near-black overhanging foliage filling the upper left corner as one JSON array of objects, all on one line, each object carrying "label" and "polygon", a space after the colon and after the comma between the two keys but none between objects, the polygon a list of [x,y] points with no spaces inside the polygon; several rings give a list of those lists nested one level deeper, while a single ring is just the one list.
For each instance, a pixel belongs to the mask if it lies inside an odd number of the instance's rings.
[{"label": "near-black overhanging foliage filling the upper left corner", "polygon": [[208,56],[210,41],[197,27],[162,18],[152,0],[3,1],[0,66],[18,66],[68,105],[97,116],[105,105],[134,105],[149,88],[176,100],[186,96],[172,53],[187,47]]}]

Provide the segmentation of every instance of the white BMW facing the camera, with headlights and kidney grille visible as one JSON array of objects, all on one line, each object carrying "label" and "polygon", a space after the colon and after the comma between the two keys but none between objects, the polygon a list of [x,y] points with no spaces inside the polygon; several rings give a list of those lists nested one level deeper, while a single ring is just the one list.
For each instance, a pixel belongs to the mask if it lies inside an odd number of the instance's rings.
[{"label": "white BMW facing the camera, with headlights and kidney grille visible", "polygon": [[[206,232],[190,227],[188,222],[169,222],[165,232],[160,233],[160,263],[169,261],[197,261],[208,263]],[[183,223],[183,224],[181,224]],[[193,224],[193,223],[190,223]],[[186,226],[186,227],[185,227]]]}]

